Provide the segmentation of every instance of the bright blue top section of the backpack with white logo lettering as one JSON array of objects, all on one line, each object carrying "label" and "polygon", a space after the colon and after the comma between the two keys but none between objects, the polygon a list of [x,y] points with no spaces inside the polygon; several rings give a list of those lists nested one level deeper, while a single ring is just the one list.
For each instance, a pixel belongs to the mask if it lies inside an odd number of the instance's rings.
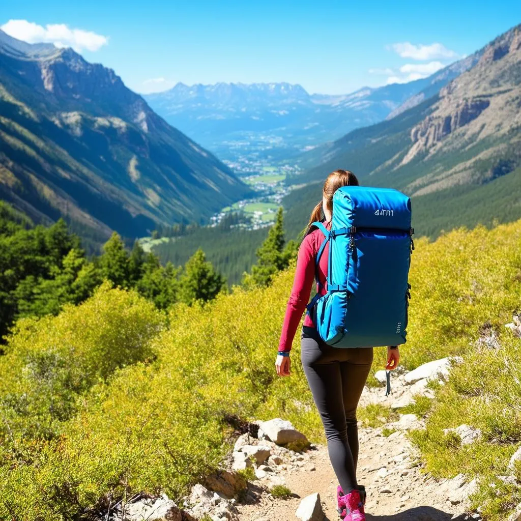
[{"label": "bright blue top section of the backpack with white logo lettering", "polygon": [[341,187],[333,195],[332,228],[351,227],[408,231],[411,199],[392,188]]}]

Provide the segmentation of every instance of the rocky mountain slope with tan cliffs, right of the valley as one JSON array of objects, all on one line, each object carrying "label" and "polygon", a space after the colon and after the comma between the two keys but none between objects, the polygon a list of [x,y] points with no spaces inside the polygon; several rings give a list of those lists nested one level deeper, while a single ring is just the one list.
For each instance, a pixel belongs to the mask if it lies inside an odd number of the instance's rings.
[{"label": "rocky mountain slope with tan cliffs, right of the valley", "polygon": [[410,194],[420,233],[521,217],[521,25],[478,54],[438,94],[309,152],[317,166],[291,181],[311,184],[286,198],[289,227],[300,231],[336,168]]}]

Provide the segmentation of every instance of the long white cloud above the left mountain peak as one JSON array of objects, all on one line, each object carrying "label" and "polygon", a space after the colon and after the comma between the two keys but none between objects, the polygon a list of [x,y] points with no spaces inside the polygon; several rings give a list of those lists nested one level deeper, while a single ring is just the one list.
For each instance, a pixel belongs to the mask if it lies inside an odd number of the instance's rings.
[{"label": "long white cloud above the left mountain peak", "polygon": [[56,47],[72,47],[76,52],[98,51],[108,43],[108,36],[70,29],[65,23],[48,23],[43,27],[27,20],[9,20],[0,29],[27,43],[53,43]]}]

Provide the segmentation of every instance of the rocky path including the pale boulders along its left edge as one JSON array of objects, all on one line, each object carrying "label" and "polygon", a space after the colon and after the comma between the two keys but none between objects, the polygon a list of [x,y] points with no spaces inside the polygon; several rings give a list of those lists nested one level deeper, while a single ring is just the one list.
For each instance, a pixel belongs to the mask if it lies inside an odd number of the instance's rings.
[{"label": "rocky path including the pale boulders along its left edge", "polygon": [[[451,363],[447,358],[429,362],[409,373],[393,376],[393,392],[386,398],[380,388],[365,388],[361,405],[384,403],[398,420],[379,428],[359,428],[358,481],[367,491],[368,521],[479,521],[469,512],[468,496],[476,482],[458,475],[436,480],[422,472],[407,432],[425,427],[414,414],[399,414],[418,395],[431,395],[428,381],[443,379]],[[383,384],[385,374],[377,373]],[[439,380],[442,381],[442,380]],[[139,497],[115,506],[104,517],[109,521],[332,521],[336,508],[337,480],[327,448],[307,445],[306,437],[289,421],[274,418],[250,424],[250,432],[235,442],[224,468],[192,487],[176,505],[165,495]],[[480,432],[467,425],[455,429],[462,444],[472,443]],[[387,436],[386,436],[387,435]],[[520,455],[521,458],[521,455]],[[247,480],[245,479],[247,478]],[[275,485],[291,491],[286,499],[271,493]],[[317,496],[318,494],[318,496]],[[111,515],[109,515],[111,514]],[[297,515],[296,515],[297,514]],[[296,517],[295,517],[296,515]]]}]

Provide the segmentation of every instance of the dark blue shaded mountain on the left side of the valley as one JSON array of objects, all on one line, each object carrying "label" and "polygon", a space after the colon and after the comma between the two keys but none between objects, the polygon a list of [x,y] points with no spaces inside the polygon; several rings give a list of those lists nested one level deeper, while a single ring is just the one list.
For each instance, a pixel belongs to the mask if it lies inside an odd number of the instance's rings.
[{"label": "dark blue shaded mountain on the left side of the valley", "polygon": [[0,31],[0,197],[84,237],[200,221],[250,189],[111,69]]}]

